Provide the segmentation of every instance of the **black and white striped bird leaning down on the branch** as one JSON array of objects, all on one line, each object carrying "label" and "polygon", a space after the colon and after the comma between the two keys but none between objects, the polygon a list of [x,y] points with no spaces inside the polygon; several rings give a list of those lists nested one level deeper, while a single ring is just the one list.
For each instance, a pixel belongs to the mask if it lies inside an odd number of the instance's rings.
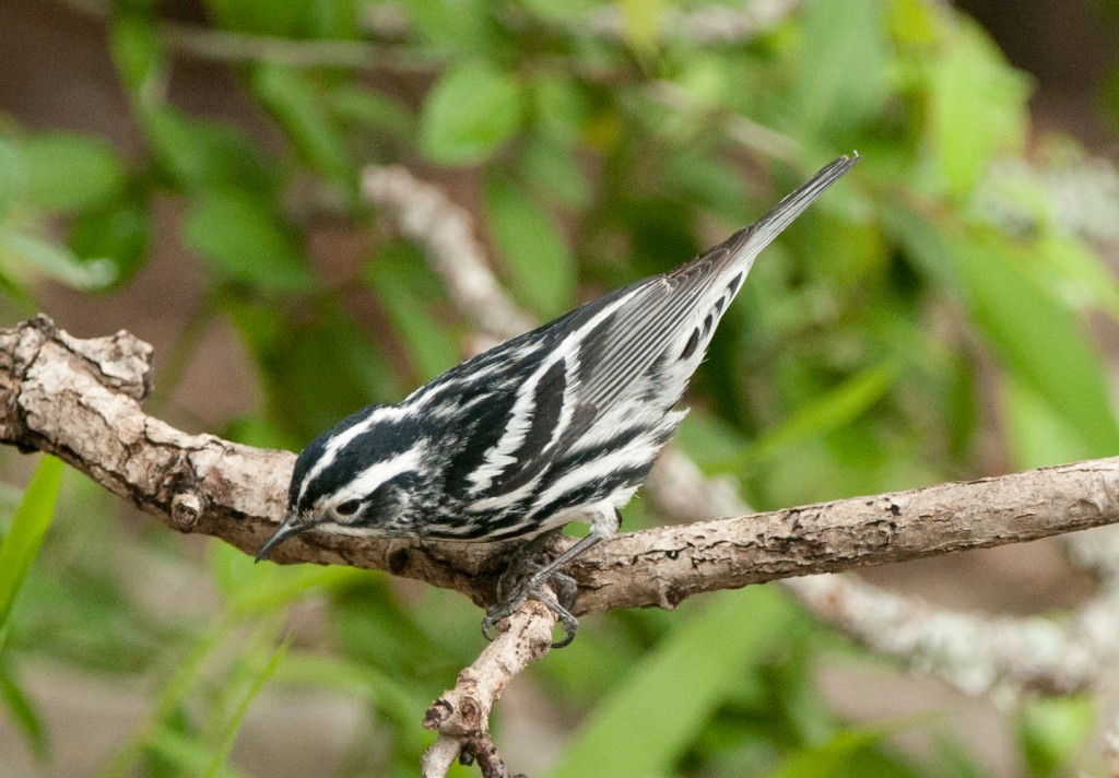
[{"label": "black and white striped bird leaning down on the branch", "polygon": [[[482,634],[528,597],[571,643],[564,565],[619,529],[686,410],[677,405],[754,259],[858,161],[824,167],[769,214],[675,270],[586,302],[473,356],[396,404],[368,405],[297,457],[284,521],[256,561],[308,531],[432,541],[524,541]],[[532,557],[571,522],[587,534]],[[551,588],[556,592],[549,591]]]}]

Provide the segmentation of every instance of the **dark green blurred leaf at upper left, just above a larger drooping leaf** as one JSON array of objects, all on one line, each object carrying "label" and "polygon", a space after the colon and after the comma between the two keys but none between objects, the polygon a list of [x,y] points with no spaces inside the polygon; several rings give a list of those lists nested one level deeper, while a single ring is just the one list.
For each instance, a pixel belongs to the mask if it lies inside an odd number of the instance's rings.
[{"label": "dark green blurred leaf at upper left, just above a larger drooping leaf", "polygon": [[181,189],[257,191],[273,186],[258,148],[239,130],[172,107],[144,115],[156,157]]}]

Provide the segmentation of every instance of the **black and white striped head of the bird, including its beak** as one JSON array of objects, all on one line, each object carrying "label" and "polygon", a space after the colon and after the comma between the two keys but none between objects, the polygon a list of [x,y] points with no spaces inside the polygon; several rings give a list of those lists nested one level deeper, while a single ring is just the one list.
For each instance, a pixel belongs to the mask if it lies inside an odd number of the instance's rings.
[{"label": "black and white striped head of the bird, including its beak", "polygon": [[288,516],[261,547],[264,559],[281,542],[311,528],[345,535],[414,532],[424,442],[414,416],[372,405],[322,433],[295,460]]}]

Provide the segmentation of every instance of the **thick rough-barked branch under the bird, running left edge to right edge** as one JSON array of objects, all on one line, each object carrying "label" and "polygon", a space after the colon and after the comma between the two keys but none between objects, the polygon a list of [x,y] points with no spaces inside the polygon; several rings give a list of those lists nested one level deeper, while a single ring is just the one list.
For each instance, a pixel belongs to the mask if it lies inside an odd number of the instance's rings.
[{"label": "thick rough-barked branch under the bird, running left edge to right edge", "polygon": [[[254,552],[283,515],[292,454],[144,414],[150,358],[128,332],[81,340],[43,316],[0,330],[0,440],[62,457],[176,529]],[[1101,459],[623,534],[571,565],[577,612],[673,608],[700,592],[1111,524],[1117,479],[1119,459]],[[479,604],[501,566],[491,544],[318,533],[275,557],[385,570]]]}]

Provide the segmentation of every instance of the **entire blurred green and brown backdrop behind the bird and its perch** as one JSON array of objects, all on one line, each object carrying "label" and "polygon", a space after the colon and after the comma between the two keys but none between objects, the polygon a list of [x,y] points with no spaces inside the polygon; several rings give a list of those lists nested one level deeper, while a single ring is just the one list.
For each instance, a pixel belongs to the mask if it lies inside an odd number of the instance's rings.
[{"label": "entire blurred green and brown backdrop behind the bird and its perch", "polygon": [[[366,166],[468,209],[544,320],[857,149],[731,308],[678,446],[758,509],[1111,456],[1117,32],[1112,0],[4,0],[0,321],[131,330],[149,413],[298,450],[476,344]],[[0,451],[4,533],[49,515],[37,462]],[[1059,541],[865,578],[1012,620],[1101,585]],[[70,470],[16,589],[6,777],[416,775],[482,645],[457,594],[253,566]],[[493,723],[533,776],[1108,775],[1115,667],[966,695],[919,665],[759,587],[584,619]]]}]

